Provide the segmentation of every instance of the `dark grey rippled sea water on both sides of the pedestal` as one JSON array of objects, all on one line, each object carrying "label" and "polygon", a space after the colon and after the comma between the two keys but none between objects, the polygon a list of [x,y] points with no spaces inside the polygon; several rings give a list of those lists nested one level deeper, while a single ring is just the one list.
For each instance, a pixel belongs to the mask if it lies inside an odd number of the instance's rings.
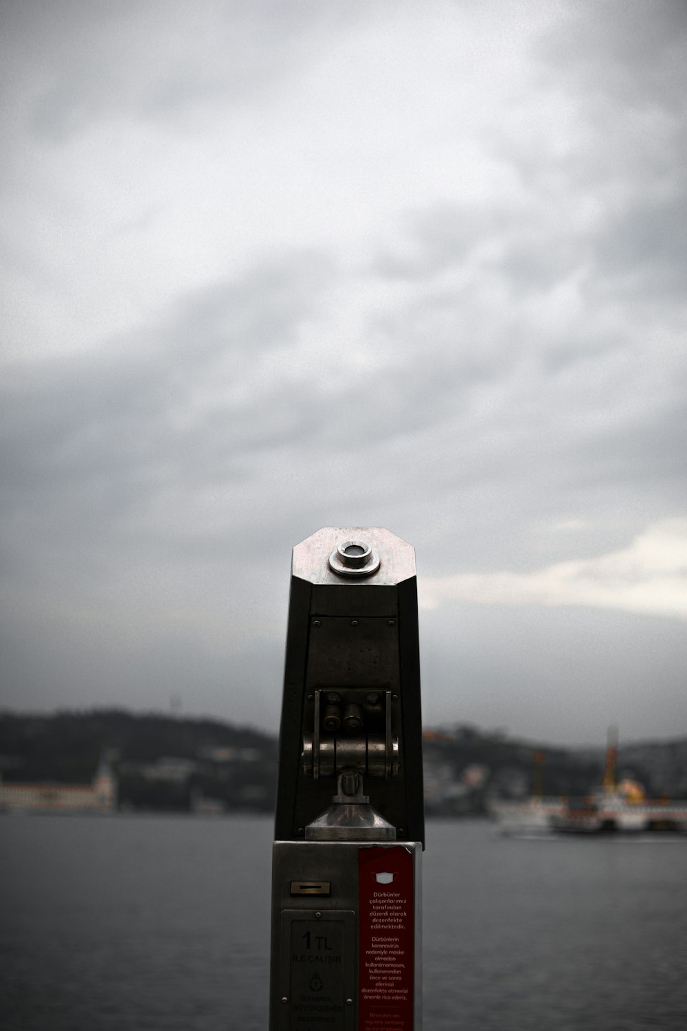
[{"label": "dark grey rippled sea water on both sides of the pedestal", "polygon": [[[0,819],[3,1031],[266,1031],[272,822]],[[425,1031],[687,1028],[687,838],[430,822]]]}]

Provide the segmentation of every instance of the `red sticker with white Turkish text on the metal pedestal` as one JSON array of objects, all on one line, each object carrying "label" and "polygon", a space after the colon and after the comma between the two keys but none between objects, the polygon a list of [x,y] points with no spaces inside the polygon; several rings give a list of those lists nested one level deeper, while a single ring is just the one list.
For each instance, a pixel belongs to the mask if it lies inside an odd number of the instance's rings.
[{"label": "red sticker with white Turkish text on the metal pedestal", "polygon": [[402,845],[359,849],[359,1031],[412,1031],[413,857]]}]

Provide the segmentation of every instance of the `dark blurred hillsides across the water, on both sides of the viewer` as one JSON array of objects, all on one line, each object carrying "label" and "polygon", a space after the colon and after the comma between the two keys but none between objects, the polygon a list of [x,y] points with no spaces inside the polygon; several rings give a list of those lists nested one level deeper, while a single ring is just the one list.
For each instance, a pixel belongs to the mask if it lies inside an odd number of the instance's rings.
[{"label": "dark blurred hillsides across the water, on both sides of the viewer", "polygon": [[[604,771],[603,747],[554,747],[470,726],[427,729],[423,747],[428,814],[483,813],[493,795],[584,795]],[[0,773],[6,781],[84,784],[103,759],[117,775],[124,808],[274,807],[277,742],[257,730],[119,709],[0,712]],[[652,797],[687,797],[687,738],[621,742],[618,775],[633,776]]]}]

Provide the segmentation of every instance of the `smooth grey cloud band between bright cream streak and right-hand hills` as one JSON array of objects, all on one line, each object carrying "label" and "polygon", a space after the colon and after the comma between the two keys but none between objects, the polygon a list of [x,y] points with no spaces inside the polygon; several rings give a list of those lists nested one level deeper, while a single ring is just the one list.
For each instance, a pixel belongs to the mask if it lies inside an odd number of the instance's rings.
[{"label": "smooth grey cloud band between bright cream streak and right-hand hills", "polygon": [[[675,733],[685,726],[678,670],[687,660],[687,635],[678,621],[455,604],[444,618],[423,619],[422,645],[423,716],[431,724],[460,711],[515,734],[539,725],[561,742],[600,740],[613,722],[625,739],[655,733],[659,724]],[[444,684],[451,685],[448,703],[438,690]]]}]

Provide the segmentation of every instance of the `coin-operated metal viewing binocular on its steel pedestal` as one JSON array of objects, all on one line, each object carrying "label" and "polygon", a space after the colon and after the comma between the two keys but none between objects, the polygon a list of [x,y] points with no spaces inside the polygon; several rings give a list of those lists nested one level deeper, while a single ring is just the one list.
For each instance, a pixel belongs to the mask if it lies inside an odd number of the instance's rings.
[{"label": "coin-operated metal viewing binocular on its steel pedestal", "polygon": [[271,1031],[418,1031],[417,580],[387,530],[294,548],[275,837]]}]

